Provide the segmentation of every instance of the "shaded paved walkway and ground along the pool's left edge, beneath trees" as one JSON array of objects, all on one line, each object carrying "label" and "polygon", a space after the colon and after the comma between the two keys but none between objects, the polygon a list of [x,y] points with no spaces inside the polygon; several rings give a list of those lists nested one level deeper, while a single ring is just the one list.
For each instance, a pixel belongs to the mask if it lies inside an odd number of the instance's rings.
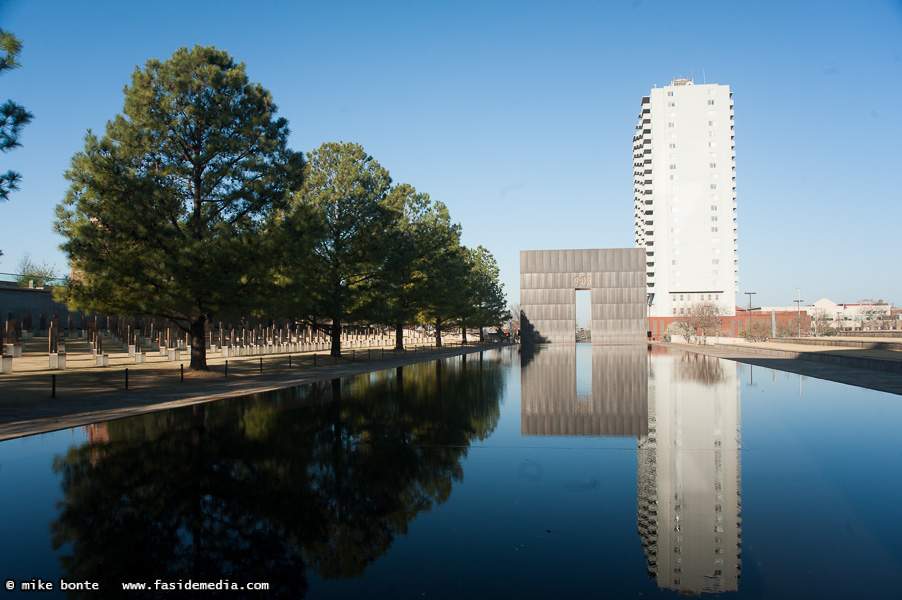
[{"label": "shaded paved walkway and ground along the pool's left edge, beneath trees", "polygon": [[[263,374],[257,370],[260,357],[241,357],[229,359],[228,377],[223,372],[224,359],[217,358],[208,361],[213,369],[211,372],[186,371],[184,382],[181,382],[181,363],[159,362],[150,366],[132,363],[128,366],[131,376],[143,374],[145,377],[139,389],[130,385],[128,391],[124,389],[125,367],[122,365],[104,368],[86,364],[81,368],[51,371],[43,366],[48,360],[46,355],[39,359],[16,359],[22,361],[21,367],[25,367],[28,360],[39,360],[42,366],[37,370],[22,368],[12,375],[0,375],[0,441],[498,347],[498,344],[455,345],[441,349],[419,347],[397,355],[390,350],[383,353],[382,349],[372,349],[367,353],[365,349],[358,349],[353,353],[353,360],[348,351],[337,362],[320,353],[316,366],[313,366],[313,353],[293,354],[291,368],[287,354],[266,355],[263,356],[266,369]],[[58,374],[59,381],[67,378],[69,388],[60,389],[57,397],[51,399],[48,380],[53,373]],[[110,379],[117,382],[116,391],[109,391]],[[36,381],[38,389],[33,389]],[[84,387],[73,387],[79,384]]]}]

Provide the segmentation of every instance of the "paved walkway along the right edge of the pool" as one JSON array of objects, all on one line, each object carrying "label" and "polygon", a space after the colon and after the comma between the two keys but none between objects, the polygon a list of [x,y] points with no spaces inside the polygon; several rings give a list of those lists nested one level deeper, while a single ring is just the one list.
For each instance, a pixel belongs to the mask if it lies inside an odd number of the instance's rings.
[{"label": "paved walkway along the right edge of the pool", "polygon": [[717,346],[671,343],[659,345],[902,395],[902,350],[783,342]]}]

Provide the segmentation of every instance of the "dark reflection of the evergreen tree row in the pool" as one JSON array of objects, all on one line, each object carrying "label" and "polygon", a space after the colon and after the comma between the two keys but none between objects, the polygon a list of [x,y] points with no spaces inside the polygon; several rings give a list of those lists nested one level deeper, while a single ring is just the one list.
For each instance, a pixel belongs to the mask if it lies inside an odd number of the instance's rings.
[{"label": "dark reflection of the evergreen tree row in the pool", "polygon": [[55,459],[66,578],[104,597],[157,579],[266,581],[269,596],[300,597],[308,567],[360,576],[448,499],[501,391],[498,364],[471,359],[110,422],[103,443]]}]

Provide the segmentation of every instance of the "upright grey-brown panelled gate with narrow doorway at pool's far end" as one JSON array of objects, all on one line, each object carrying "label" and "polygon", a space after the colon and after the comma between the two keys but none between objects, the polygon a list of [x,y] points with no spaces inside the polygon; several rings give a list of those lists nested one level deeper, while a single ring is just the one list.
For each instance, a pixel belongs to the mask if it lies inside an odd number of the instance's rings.
[{"label": "upright grey-brown panelled gate with narrow doorway at pool's far end", "polygon": [[576,290],[590,291],[592,343],[645,341],[643,249],[521,251],[521,332],[534,334],[532,341],[575,343]]}]

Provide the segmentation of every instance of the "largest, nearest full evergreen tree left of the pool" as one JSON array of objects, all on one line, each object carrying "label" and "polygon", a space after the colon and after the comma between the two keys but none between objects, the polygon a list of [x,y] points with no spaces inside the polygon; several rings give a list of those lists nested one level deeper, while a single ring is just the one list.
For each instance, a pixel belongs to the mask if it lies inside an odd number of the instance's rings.
[{"label": "largest, nearest full evergreen tree left of the pool", "polygon": [[256,305],[262,223],[300,183],[302,156],[275,112],[213,47],[137,68],[123,114],[102,138],[88,132],[66,173],[56,227],[70,306],[167,317],[191,334],[191,368],[206,369],[205,324]]}]

